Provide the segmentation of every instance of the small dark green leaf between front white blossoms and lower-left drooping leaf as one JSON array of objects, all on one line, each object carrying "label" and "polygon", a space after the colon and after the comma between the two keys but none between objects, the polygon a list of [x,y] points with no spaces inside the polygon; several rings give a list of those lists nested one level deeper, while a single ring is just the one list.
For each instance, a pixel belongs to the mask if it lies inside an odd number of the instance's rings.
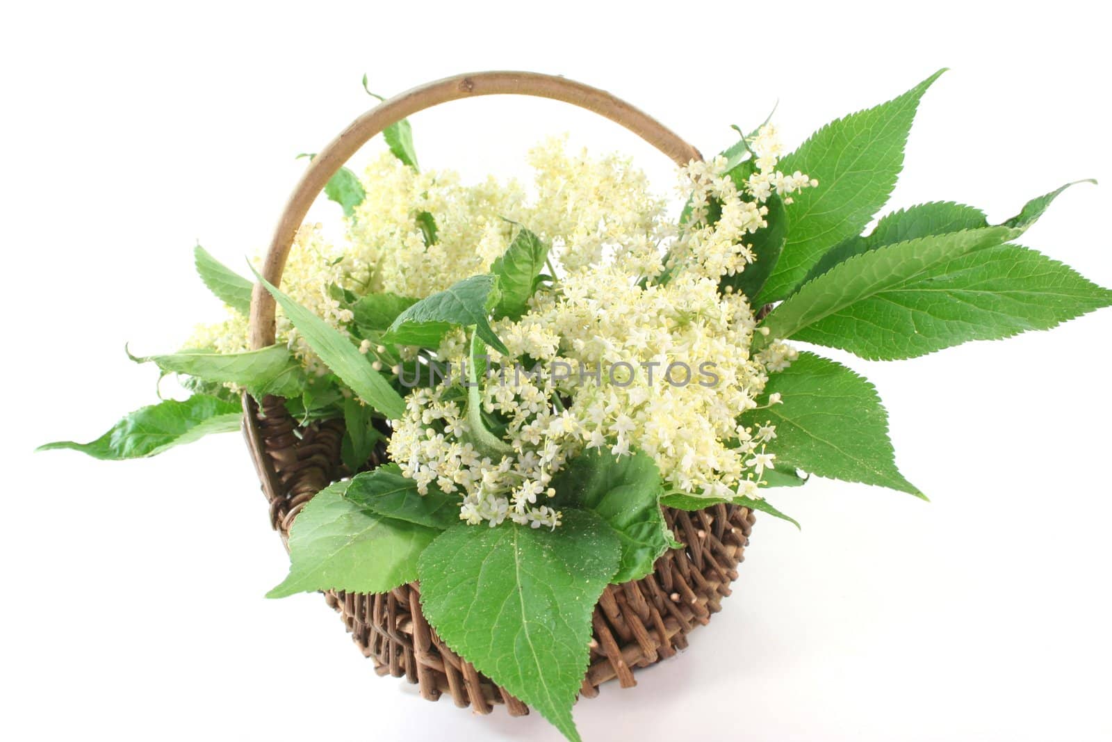
[{"label": "small dark green leaf between front white blossoms and lower-left drooping leaf", "polygon": [[417,483],[404,476],[397,464],[386,464],[357,474],[344,495],[378,515],[406,521],[438,531],[459,524],[459,497],[429,485],[428,493],[417,492]]}]

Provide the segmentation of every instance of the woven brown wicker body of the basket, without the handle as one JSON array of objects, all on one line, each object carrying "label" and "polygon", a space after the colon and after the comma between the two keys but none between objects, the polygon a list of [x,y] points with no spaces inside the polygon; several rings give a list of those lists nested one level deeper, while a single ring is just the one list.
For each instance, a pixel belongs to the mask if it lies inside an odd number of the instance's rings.
[{"label": "woven brown wicker body of the basket, without the handle", "polygon": [[[270,522],[285,541],[289,526],[312,495],[348,474],[340,463],[342,424],[314,423],[299,428],[281,399],[267,397],[261,409],[245,396],[245,434],[270,503]],[[373,454],[367,467],[386,461]],[[636,685],[633,671],[674,655],[687,646],[686,635],[707,623],[729,595],[753,528],[753,513],[736,505],[685,512],[665,508],[676,540],[652,574],[608,585],[595,606],[590,664],[580,695],[594,698],[598,686],[617,679]],[[528,708],[459,657],[428,625],[417,583],[388,593],[325,593],[365,656],[380,675],[406,677],[431,701],[445,693],[456,705],[490,713],[505,704],[513,716]]]}]

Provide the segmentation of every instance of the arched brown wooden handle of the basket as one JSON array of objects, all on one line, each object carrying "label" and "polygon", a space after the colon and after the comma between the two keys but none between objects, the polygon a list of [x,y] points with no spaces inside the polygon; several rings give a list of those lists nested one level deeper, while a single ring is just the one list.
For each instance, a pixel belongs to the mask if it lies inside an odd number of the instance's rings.
[{"label": "arched brown wooden handle of the basket", "polygon": [[[417,111],[475,96],[517,95],[552,98],[594,111],[620,123],[679,166],[702,160],[698,150],[644,111],[605,90],[537,72],[475,72],[427,82],[370,109],[353,121],[312,158],[294,188],[262,263],[262,277],[278,286],[298,228],[325,184],[371,137]],[[250,343],[262,348],[275,342],[275,300],[261,284],[251,295]]]}]

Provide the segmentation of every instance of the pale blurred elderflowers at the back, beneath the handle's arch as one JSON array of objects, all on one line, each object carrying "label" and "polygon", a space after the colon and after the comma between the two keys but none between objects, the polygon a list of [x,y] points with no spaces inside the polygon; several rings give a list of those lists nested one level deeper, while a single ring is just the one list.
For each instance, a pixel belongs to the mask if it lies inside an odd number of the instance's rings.
[{"label": "pale blurred elderflowers at the back, beneath the handle's arch", "polygon": [[[589,265],[605,245],[658,240],[664,202],[652,196],[647,178],[628,159],[595,159],[586,151],[570,156],[565,141],[553,138],[530,151],[529,162],[536,171],[532,191],[493,177],[464,185],[451,170],[418,172],[383,152],[365,170],[366,198],[346,219],[344,244],[325,240],[319,225],[298,230],[282,290],[342,328],[351,317],[335,298],[334,286],[356,296],[389,291],[426,297],[488,270],[508,247],[514,222],[555,243],[554,255],[563,255],[565,265]],[[325,373],[280,308],[276,329],[307,369]],[[229,311],[221,323],[197,327],[185,346],[245,350],[247,317]]]}]

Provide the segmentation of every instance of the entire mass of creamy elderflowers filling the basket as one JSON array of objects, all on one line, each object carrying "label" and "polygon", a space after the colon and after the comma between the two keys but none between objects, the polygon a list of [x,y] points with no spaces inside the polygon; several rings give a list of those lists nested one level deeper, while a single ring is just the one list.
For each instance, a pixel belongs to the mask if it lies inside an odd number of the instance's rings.
[{"label": "entire mass of creamy elderflowers filling the basket", "polygon": [[[754,307],[721,288],[756,259],[751,240],[767,226],[772,195],[790,201],[817,184],[776,170],[783,148],[771,125],[747,146],[753,159],[744,168],[727,171],[716,158],[681,170],[689,202],[678,224],[628,159],[569,156],[560,139],[530,152],[532,190],[493,178],[464,185],[454,172],[418,172],[384,155],[367,168],[366,199],[347,221],[346,244],[334,247],[319,228],[304,227],[282,289],[348,329],[351,311],[337,297],[428,296],[489,270],[524,225],[552,246],[549,268],[559,267],[524,316],[494,323],[508,355],[488,350],[490,373],[477,389],[461,373],[470,358],[463,329],[433,354],[399,348],[418,367],[434,359],[455,370],[410,393],[393,421],[388,452],[403,473],[421,493],[435,486],[458,494],[460,518],[492,526],[508,518],[556,527],[553,477],[592,449],[644,452],[669,492],[759,497],[775,466],[776,431],[738,418],[757,407],[768,373],[796,353],[770,338],[751,355]],[[308,370],[327,373],[280,309],[277,335]],[[232,314],[198,328],[190,345],[242,350],[247,320]],[[384,350],[367,339],[359,345],[376,358]],[[537,364],[533,373],[520,373],[523,359]],[[469,408],[469,392],[478,410]],[[772,395],[768,404],[777,402]]]}]

